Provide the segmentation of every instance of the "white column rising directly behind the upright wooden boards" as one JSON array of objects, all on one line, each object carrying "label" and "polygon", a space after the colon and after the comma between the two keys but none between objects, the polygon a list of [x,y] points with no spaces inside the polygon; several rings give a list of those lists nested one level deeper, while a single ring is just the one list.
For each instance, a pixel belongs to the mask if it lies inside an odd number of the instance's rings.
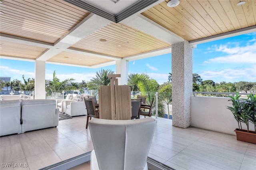
[{"label": "white column rising directly behind the upright wooden boards", "polygon": [[116,60],[116,74],[121,74],[118,78],[118,85],[127,85],[128,82],[129,61],[124,59]]}]

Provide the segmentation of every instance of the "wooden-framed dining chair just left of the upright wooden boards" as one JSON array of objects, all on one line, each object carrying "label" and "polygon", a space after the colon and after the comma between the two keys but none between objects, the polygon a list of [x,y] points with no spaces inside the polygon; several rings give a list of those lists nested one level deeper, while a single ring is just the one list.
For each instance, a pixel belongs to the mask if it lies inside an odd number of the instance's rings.
[{"label": "wooden-framed dining chair just left of the upright wooden boards", "polygon": [[88,127],[88,121],[93,118],[99,118],[99,109],[96,109],[94,102],[92,101],[92,98],[86,98],[84,97],[84,103],[87,109],[87,121],[86,121],[86,128]]}]

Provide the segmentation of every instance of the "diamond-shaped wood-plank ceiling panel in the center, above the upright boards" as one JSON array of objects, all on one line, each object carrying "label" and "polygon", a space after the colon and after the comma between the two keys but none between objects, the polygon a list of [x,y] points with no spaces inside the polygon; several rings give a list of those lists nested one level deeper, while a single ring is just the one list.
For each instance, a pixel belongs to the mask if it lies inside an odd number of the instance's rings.
[{"label": "diamond-shaped wood-plank ceiling panel in the center, above the upright boards", "polygon": [[111,22],[71,47],[104,55],[127,57],[170,45],[125,24]]}]

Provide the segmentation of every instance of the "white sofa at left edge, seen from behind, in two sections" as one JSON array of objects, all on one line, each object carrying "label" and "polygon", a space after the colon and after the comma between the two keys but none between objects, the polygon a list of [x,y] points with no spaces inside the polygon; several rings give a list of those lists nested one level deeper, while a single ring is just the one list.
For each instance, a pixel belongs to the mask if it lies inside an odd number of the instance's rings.
[{"label": "white sofa at left edge, seen from behind, in two sections", "polygon": [[54,99],[0,101],[0,136],[56,127],[58,122]]}]

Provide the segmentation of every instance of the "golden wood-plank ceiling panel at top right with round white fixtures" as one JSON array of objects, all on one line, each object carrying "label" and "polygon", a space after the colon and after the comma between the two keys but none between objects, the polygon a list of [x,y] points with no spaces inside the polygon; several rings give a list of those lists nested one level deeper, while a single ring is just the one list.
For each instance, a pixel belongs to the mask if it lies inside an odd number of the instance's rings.
[{"label": "golden wood-plank ceiling panel at top right with round white fixtures", "polygon": [[236,6],[240,0],[180,0],[174,8],[168,2],[142,15],[188,41],[256,25],[256,0],[242,6]]}]

